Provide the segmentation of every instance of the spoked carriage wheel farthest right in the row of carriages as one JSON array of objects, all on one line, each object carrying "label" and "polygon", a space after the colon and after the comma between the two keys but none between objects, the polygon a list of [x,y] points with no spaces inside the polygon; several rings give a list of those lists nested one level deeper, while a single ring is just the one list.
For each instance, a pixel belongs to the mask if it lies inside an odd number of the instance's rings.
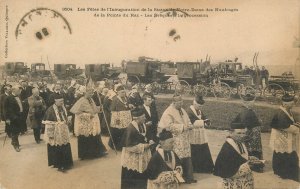
[{"label": "spoked carriage wheel farthest right in the row of carriages", "polygon": [[279,104],[281,97],[285,94],[284,89],[276,84],[271,83],[264,89],[264,99],[270,104]]}]

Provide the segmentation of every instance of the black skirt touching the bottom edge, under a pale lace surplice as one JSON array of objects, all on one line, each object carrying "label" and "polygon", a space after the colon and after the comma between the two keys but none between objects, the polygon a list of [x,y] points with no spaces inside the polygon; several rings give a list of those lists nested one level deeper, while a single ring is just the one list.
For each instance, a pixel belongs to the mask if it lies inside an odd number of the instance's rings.
[{"label": "black skirt touching the bottom edge, under a pale lace surplice", "polygon": [[122,167],[121,189],[146,189],[147,178],[144,173]]}]

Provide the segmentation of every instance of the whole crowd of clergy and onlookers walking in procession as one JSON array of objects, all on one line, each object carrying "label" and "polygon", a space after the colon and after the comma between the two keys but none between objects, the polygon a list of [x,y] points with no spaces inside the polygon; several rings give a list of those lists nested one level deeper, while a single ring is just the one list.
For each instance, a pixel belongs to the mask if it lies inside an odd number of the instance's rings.
[{"label": "whole crowd of clergy and onlookers walking in procession", "polygon": [[[47,144],[48,166],[66,172],[73,166],[70,135],[77,137],[78,158],[107,155],[101,136],[110,137],[108,146],[121,151],[121,188],[177,188],[193,184],[193,173],[209,173],[223,179],[224,188],[254,188],[252,171],[264,171],[259,116],[253,109],[255,97],[247,94],[243,110],[232,120],[214,163],[205,129],[211,124],[203,112],[205,101],[196,95],[185,110],[175,93],[161,116],[151,84],[140,93],[128,92],[120,83],[86,85],[72,80],[42,82],[33,86],[21,80],[6,84],[0,96],[0,115],[5,132],[16,152],[18,137],[33,129],[37,144]],[[299,115],[292,111],[294,97],[282,97],[282,105],[271,123],[270,145],[273,171],[283,179],[299,181]]]}]

